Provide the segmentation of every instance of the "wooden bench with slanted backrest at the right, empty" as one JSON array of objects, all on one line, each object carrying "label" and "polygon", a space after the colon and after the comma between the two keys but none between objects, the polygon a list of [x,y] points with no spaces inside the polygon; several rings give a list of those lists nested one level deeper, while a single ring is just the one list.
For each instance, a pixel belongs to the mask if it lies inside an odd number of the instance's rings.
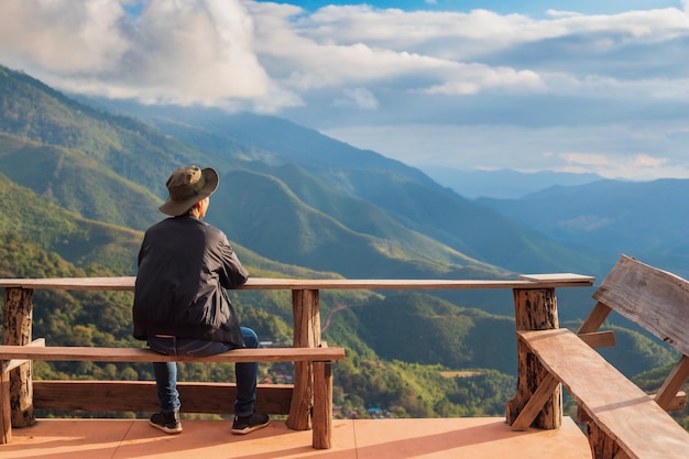
[{"label": "wooden bench with slanted backrest at the right, empty", "polygon": [[[594,458],[686,459],[689,433],[667,411],[686,406],[689,376],[689,282],[622,255],[593,294],[597,304],[577,334],[567,329],[517,330],[520,346],[547,370],[512,423],[528,428],[561,383],[587,423]],[[614,345],[599,331],[615,310],[675,348],[681,357],[658,393],[646,394],[593,347]]]}]

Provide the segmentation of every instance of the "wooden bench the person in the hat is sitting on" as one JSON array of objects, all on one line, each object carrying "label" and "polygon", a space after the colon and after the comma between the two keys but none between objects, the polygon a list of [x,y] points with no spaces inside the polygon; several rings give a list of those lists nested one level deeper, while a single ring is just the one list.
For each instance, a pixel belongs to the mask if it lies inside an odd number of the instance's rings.
[{"label": "wooden bench the person in the hat is sitting on", "polygon": [[[0,418],[4,441],[11,440],[11,411],[10,411],[10,380],[9,372],[20,365],[33,361],[99,361],[99,362],[310,362],[313,363],[313,405],[310,416],[313,422],[313,447],[328,449],[331,447],[332,435],[332,368],[333,360],[344,359],[342,348],[260,348],[236,349],[209,357],[164,356],[150,349],[139,348],[95,348],[95,347],[62,347],[45,346],[44,339],[37,339],[25,346],[0,346],[0,362],[2,364],[2,386],[0,387]],[[78,384],[81,383],[81,384]],[[85,389],[84,382],[77,382],[77,386]],[[103,382],[89,382],[90,387],[97,387]],[[122,385],[121,382],[116,384]],[[155,398],[154,383],[147,384],[152,390],[149,395]],[[181,385],[184,385],[181,383]],[[74,386],[74,384],[73,384]],[[112,387],[113,383],[105,382],[105,387]],[[204,385],[206,396],[212,396],[212,386]],[[64,386],[62,389],[65,389]],[[67,391],[68,392],[68,391]],[[108,398],[112,398],[112,393]],[[226,397],[229,394],[226,393]],[[99,406],[92,403],[92,398],[86,393],[83,397],[89,400],[88,405],[92,408]],[[181,396],[184,392],[181,389]],[[116,397],[117,398],[117,397]],[[157,398],[155,398],[157,400]],[[294,398],[293,403],[294,403]],[[122,403],[116,400],[114,405]],[[111,407],[113,405],[110,405]],[[120,409],[120,411],[127,411]],[[132,409],[138,411],[138,409]]]}]

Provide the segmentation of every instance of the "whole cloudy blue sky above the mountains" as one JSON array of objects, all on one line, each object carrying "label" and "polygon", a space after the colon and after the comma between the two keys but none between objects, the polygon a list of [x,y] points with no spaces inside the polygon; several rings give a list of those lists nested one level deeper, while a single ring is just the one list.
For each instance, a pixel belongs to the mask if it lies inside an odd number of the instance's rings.
[{"label": "whole cloudy blue sky above the mountains", "polygon": [[689,177],[689,0],[2,0],[0,64],[422,168]]}]

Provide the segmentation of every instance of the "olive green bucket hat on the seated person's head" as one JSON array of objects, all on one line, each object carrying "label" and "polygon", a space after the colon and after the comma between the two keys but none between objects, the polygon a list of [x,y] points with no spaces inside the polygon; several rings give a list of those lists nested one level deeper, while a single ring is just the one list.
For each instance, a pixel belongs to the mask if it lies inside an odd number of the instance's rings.
[{"label": "olive green bucket hat on the seated person's head", "polygon": [[214,168],[179,167],[165,183],[169,196],[158,209],[173,217],[186,214],[196,203],[212,195],[218,182],[218,173]]}]

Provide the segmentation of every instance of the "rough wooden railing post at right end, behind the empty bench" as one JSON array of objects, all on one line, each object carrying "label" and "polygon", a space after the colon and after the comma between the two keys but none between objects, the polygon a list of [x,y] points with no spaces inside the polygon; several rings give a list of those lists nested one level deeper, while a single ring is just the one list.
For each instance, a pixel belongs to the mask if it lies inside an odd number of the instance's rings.
[{"label": "rough wooden railing post at right end, behind the empty bench", "polygon": [[[514,288],[514,318],[517,330],[547,330],[559,328],[555,288]],[[517,418],[547,371],[536,356],[517,341],[517,387],[507,401],[506,420],[512,425]],[[562,390],[558,384],[553,395],[533,423],[534,427],[556,429],[562,424]]]}]

